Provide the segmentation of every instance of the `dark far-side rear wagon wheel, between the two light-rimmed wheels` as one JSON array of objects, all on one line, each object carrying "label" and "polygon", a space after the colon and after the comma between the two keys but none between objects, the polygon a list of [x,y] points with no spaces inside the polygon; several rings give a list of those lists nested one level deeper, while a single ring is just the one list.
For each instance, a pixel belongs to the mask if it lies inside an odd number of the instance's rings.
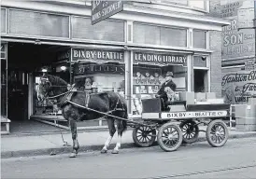
[{"label": "dark far-side rear wagon wheel, between the two light-rimmed wheels", "polygon": [[199,128],[192,120],[183,121],[179,125],[183,133],[183,143],[192,144],[196,142],[199,135]]}]

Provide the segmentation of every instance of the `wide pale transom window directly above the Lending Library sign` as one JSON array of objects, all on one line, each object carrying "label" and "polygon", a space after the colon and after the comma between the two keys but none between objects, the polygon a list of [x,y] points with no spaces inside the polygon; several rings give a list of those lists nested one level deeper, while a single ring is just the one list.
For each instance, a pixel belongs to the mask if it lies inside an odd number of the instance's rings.
[{"label": "wide pale transom window directly above the Lending Library sign", "polygon": [[187,46],[187,30],[134,23],[134,43],[172,47]]}]

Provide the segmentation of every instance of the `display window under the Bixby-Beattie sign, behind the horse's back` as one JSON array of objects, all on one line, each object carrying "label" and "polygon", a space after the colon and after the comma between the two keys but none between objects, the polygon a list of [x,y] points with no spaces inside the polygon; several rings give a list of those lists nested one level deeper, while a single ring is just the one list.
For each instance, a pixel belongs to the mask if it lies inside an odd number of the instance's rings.
[{"label": "display window under the Bixby-Beattie sign, behind the horse's back", "polygon": [[74,64],[74,80],[78,90],[92,90],[92,92],[110,90],[124,95],[124,73],[124,63],[119,62]]}]

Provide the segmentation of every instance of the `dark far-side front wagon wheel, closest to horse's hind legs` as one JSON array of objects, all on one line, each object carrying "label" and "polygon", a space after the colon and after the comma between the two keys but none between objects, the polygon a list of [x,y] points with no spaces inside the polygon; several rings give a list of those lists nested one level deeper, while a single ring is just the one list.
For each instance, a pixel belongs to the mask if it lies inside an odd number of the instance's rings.
[{"label": "dark far-side front wagon wheel, closest to horse's hind legs", "polygon": [[156,139],[156,130],[149,127],[140,126],[133,130],[133,140],[135,145],[141,147],[149,147],[153,145]]}]

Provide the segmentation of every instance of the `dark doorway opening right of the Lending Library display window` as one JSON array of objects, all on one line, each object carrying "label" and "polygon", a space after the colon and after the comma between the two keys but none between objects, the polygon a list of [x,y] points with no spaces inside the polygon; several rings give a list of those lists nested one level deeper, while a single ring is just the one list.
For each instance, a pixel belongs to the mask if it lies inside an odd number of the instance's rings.
[{"label": "dark doorway opening right of the Lending Library display window", "polygon": [[194,92],[207,92],[207,70],[194,69],[193,70],[193,90]]}]

